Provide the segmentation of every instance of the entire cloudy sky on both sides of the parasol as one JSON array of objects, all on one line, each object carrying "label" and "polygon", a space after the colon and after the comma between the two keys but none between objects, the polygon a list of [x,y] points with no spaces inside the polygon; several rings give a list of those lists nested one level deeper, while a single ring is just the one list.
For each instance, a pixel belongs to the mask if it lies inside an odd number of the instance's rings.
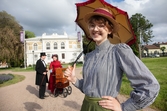
[{"label": "entire cloudy sky on both sides of the parasol", "polygon": [[[15,17],[24,30],[34,32],[36,36],[43,33],[67,33],[77,36],[81,29],[76,25],[75,3],[87,0],[0,0],[0,11],[6,11]],[[167,42],[167,0],[105,0],[126,11],[131,17],[141,13],[153,24],[152,43]]]}]

